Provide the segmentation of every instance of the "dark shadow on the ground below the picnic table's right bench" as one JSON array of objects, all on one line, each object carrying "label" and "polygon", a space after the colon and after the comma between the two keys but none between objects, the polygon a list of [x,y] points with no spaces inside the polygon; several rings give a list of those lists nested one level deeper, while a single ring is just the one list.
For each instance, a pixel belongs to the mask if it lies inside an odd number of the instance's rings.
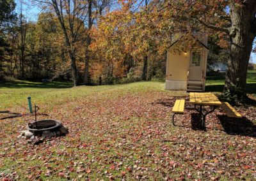
[{"label": "dark shadow on the ground below the picnic table's right bench", "polygon": [[236,119],[225,115],[218,115],[218,119],[227,134],[256,137],[256,125],[246,119],[246,117]]}]

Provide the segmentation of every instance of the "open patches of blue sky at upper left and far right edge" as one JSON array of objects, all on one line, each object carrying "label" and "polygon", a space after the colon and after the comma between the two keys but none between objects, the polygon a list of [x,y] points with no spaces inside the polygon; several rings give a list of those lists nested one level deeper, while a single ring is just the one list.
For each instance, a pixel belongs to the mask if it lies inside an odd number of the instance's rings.
[{"label": "open patches of blue sky at upper left and far right edge", "polygon": [[[30,0],[15,0],[17,6],[16,6],[16,11],[19,12],[19,2],[23,1],[24,2],[24,12],[26,11],[28,20],[30,21],[36,21],[38,18],[38,13],[40,13],[40,8],[38,8],[38,6],[35,5],[31,5],[31,1]],[[256,45],[253,45],[253,47],[255,47]],[[256,54],[252,53],[251,57],[253,59],[253,63],[256,64]]]}]

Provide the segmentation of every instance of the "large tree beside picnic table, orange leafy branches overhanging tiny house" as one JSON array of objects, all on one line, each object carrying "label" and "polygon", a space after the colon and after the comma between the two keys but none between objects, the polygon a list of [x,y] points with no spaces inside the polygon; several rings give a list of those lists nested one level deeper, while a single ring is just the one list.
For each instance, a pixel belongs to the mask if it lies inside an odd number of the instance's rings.
[{"label": "large tree beside picnic table, orange leafy branches overhanging tiny house", "polygon": [[256,1],[168,1],[161,11],[168,11],[177,27],[180,22],[186,24],[186,31],[207,31],[227,40],[225,91],[236,86],[234,94],[246,96],[247,68],[256,36]]}]

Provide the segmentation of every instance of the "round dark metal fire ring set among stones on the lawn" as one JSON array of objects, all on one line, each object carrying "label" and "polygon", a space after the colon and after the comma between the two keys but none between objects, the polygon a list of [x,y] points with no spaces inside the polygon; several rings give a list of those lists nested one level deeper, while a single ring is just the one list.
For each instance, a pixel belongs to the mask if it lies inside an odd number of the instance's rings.
[{"label": "round dark metal fire ring set among stones on the lawn", "polygon": [[44,119],[27,124],[27,129],[31,133],[38,134],[43,131],[54,131],[61,127],[61,122],[58,120]]}]

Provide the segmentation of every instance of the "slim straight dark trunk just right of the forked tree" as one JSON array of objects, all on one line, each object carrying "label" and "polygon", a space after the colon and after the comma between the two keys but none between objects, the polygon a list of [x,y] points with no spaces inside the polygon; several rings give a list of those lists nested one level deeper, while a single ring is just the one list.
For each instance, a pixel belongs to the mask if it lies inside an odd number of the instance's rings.
[{"label": "slim straight dark trunk just right of the forked tree", "polygon": [[92,28],[92,0],[88,0],[88,36],[86,38],[85,59],[84,59],[84,85],[89,84],[89,61],[91,44],[90,30]]}]

